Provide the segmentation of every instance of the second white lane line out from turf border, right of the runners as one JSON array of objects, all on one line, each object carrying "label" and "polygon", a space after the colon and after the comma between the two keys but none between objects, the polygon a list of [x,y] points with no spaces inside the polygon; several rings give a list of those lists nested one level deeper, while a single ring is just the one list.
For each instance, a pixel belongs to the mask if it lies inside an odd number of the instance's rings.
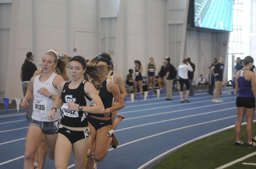
[{"label": "second white lane line out from turf border, right of the runners", "polygon": [[166,122],[166,121],[173,121],[173,120],[184,119],[184,118],[188,118],[188,117],[206,115],[206,114],[210,114],[210,113],[215,113],[215,112],[225,111],[225,110],[231,110],[231,109],[236,109],[236,108],[237,108],[237,107],[231,107],[231,108],[227,108],[227,109],[209,111],[209,112],[200,113],[200,114],[196,114],[196,115],[183,116],[183,117],[178,117],[178,118],[174,118],[174,119],[168,119],[168,120],[163,120],[163,121],[157,121],[157,122],[152,122],[152,123],[146,123],[146,124],[141,124],[141,125],[135,125],[135,126],[132,126],[132,127],[127,127],[127,128],[115,130],[115,132],[122,131],[122,130],[127,130],[127,129],[132,129],[132,128],[135,128],[135,127],[141,127],[141,126],[145,126],[145,125],[151,125],[151,124],[156,124],[156,123],[163,123],[163,122]]}]

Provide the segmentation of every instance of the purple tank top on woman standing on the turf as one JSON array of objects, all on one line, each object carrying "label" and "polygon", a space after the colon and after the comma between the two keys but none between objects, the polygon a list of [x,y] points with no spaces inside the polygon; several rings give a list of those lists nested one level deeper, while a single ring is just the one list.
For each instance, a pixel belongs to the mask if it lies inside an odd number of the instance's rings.
[{"label": "purple tank top on woman standing on the turf", "polygon": [[248,69],[240,70],[240,77],[237,79],[238,82],[238,97],[249,97],[249,98],[254,98],[252,94],[252,85],[251,81],[246,80],[243,77],[244,72]]}]

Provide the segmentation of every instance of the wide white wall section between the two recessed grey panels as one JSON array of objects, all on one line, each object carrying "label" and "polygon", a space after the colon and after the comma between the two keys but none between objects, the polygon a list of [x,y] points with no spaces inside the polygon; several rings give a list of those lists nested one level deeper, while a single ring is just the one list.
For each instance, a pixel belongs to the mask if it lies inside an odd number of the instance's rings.
[{"label": "wide white wall section between the two recessed grey panels", "polygon": [[149,58],[153,57],[160,71],[166,48],[165,0],[120,1],[117,20],[114,67],[124,78],[128,69],[134,69],[134,60],[140,60],[142,75],[147,75]]}]

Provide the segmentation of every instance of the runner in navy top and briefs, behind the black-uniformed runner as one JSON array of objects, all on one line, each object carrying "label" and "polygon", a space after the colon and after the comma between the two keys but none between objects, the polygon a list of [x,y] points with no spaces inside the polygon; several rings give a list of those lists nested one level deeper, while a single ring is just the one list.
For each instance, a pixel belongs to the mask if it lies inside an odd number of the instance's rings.
[{"label": "runner in navy top and briefs, behind the black-uniformed runner", "polygon": [[[108,153],[108,149],[111,144],[110,135],[112,130],[112,120],[110,114],[112,111],[116,111],[123,108],[125,106],[125,103],[115,83],[112,82],[109,78],[107,78],[107,75],[109,74],[108,72],[111,68],[110,60],[107,58],[99,58],[96,64],[97,66],[106,67],[104,74],[105,77],[102,78],[102,80],[104,81],[97,88],[98,94],[101,97],[101,100],[105,108],[105,116],[89,114],[88,121],[92,136],[90,149],[92,150],[93,143],[95,141],[93,158],[95,161],[100,162]],[[118,103],[112,107],[113,96]],[[92,102],[91,106],[93,105],[94,103]],[[106,114],[109,115],[106,116]],[[94,164],[92,156],[90,155],[88,158],[86,168],[93,168],[93,166]]]}]

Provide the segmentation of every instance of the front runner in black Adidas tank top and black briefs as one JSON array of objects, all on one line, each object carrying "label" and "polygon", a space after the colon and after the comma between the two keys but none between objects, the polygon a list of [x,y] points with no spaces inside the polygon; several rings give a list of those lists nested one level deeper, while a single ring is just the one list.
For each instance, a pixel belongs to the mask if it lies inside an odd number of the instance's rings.
[{"label": "front runner in black Adidas tank top and black briefs", "polygon": [[[49,115],[49,119],[52,119],[56,107],[63,102],[62,121],[59,125],[55,147],[56,168],[68,167],[72,150],[76,168],[85,168],[86,166],[87,152],[91,141],[87,112],[104,113],[104,106],[93,84],[88,82],[88,79],[83,79],[89,75],[96,82],[101,82],[100,74],[96,70],[95,66],[86,66],[86,60],[83,57],[74,56],[69,64],[71,80],[60,83],[59,94]],[[93,107],[90,106],[91,100],[95,103]]]}]

